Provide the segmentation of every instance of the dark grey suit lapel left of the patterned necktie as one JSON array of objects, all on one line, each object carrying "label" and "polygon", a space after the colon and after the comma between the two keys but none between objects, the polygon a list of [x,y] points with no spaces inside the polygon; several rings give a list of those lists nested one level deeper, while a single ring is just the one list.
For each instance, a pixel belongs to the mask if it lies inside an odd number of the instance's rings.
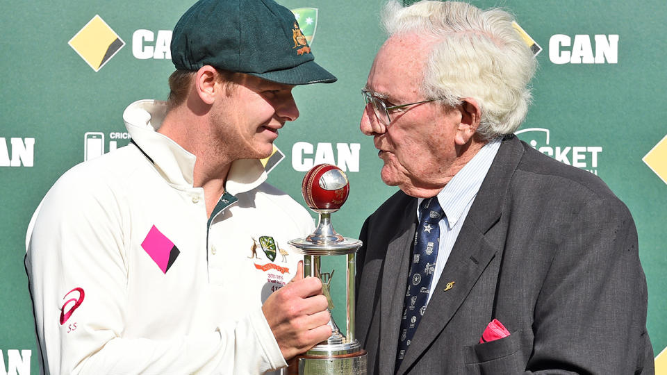
[{"label": "dark grey suit lapel left of the patterned necktie", "polygon": [[398,334],[403,315],[405,285],[413,237],[417,199],[411,199],[405,207],[395,237],[390,240],[382,272],[380,342],[378,353],[380,374],[392,374],[396,362]]}]

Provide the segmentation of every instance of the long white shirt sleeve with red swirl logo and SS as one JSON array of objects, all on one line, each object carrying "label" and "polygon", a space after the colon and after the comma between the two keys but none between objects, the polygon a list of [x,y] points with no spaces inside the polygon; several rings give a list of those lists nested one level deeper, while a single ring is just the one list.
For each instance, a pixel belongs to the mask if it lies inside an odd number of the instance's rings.
[{"label": "long white shirt sleeve with red swirl logo and SS", "polygon": [[[122,188],[73,171],[28,228],[26,272],[47,374],[261,374],[286,365],[261,308],[210,333],[127,338]],[[174,306],[177,308],[177,306]]]}]

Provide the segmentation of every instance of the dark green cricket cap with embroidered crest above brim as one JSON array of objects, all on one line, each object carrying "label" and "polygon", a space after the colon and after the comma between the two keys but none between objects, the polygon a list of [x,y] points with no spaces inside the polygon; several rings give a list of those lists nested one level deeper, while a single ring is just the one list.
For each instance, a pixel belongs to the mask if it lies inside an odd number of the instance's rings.
[{"label": "dark green cricket cap with embroidered crest above brim", "polygon": [[273,0],[199,0],[172,33],[176,69],[204,65],[287,85],[331,83],[294,15]]}]

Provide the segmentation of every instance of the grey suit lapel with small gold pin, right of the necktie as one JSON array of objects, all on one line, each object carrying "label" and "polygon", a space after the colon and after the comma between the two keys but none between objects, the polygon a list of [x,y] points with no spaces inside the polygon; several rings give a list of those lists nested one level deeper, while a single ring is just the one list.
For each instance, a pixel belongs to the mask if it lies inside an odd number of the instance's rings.
[{"label": "grey suit lapel with small gold pin, right of the necktie", "polygon": [[[487,238],[486,234],[500,219],[511,176],[522,155],[523,147],[516,137],[503,141],[463,222],[398,374],[422,356],[466,300],[488,263],[494,256],[501,256],[498,252],[502,252],[502,241]],[[495,232],[504,235],[504,231]],[[454,284],[447,287],[452,281]]]}]

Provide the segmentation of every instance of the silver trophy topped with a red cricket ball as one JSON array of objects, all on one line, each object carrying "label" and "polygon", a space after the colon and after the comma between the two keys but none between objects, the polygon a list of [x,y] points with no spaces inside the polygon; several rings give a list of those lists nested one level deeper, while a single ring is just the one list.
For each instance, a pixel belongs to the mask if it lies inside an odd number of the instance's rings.
[{"label": "silver trophy topped with a red cricket ball", "polygon": [[[349,193],[347,176],[335,165],[321,164],[313,167],[302,183],[306,204],[320,215],[318,228],[306,238],[291,240],[297,253],[304,255],[304,276],[315,276],[322,280],[322,294],[329,301],[329,326],[331,336],[315,345],[311,350],[297,356],[299,375],[312,374],[366,374],[366,351],[354,337],[354,254],[361,241],[345,238],[331,226],[331,213],[343,206]],[[321,256],[347,256],[347,331],[343,335],[331,317],[329,283],[331,274],[320,272]]]}]

